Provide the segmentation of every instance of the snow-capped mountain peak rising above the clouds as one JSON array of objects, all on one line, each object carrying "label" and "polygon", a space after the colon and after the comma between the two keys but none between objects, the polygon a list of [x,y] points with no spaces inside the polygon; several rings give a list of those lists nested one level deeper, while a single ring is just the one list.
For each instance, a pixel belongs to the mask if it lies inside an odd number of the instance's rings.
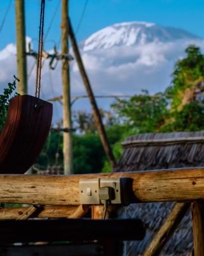
[{"label": "snow-capped mountain peak rising above the clouds", "polygon": [[198,36],[183,29],[165,28],[154,23],[122,22],[97,31],[80,45],[83,51],[91,51],[122,45],[133,46],[189,39],[198,39]]}]

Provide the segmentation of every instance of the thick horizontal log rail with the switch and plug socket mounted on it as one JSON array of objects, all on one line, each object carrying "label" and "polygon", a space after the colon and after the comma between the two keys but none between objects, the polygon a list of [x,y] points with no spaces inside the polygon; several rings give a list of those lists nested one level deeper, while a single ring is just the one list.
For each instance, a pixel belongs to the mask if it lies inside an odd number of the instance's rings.
[{"label": "thick horizontal log rail with the switch and plug socket mounted on it", "polygon": [[0,175],[0,202],[40,205],[79,205],[79,179],[133,180],[131,202],[168,202],[204,199],[204,168],[89,175]]}]

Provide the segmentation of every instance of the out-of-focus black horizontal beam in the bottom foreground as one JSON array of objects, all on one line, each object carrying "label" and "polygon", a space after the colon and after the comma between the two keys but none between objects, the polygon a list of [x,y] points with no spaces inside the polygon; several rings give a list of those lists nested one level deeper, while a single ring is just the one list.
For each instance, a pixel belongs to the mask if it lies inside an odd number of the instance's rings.
[{"label": "out-of-focus black horizontal beam in the bottom foreground", "polygon": [[142,240],[141,220],[6,220],[0,221],[0,244],[35,241]]}]

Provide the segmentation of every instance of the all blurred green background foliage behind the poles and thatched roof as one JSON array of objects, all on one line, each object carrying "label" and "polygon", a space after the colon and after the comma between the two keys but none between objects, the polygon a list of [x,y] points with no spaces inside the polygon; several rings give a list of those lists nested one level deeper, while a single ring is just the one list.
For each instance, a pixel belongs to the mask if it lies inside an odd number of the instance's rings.
[{"label": "all blurred green background foliage behind the poles and thatched roof", "polygon": [[[130,99],[117,99],[110,111],[101,109],[108,140],[118,160],[120,143],[143,132],[200,131],[204,129],[204,55],[190,45],[186,57],[175,63],[170,86],[164,93],[142,91]],[[73,113],[75,173],[111,172],[91,113]],[[51,132],[36,165],[62,165],[62,132]]]}]

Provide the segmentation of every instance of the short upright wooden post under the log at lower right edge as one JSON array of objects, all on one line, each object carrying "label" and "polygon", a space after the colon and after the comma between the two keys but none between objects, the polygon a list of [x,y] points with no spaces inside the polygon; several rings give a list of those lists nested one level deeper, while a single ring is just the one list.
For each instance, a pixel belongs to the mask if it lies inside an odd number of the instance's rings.
[{"label": "short upright wooden post under the log at lower right edge", "polygon": [[204,207],[203,201],[191,203],[193,221],[194,256],[204,255]]}]

